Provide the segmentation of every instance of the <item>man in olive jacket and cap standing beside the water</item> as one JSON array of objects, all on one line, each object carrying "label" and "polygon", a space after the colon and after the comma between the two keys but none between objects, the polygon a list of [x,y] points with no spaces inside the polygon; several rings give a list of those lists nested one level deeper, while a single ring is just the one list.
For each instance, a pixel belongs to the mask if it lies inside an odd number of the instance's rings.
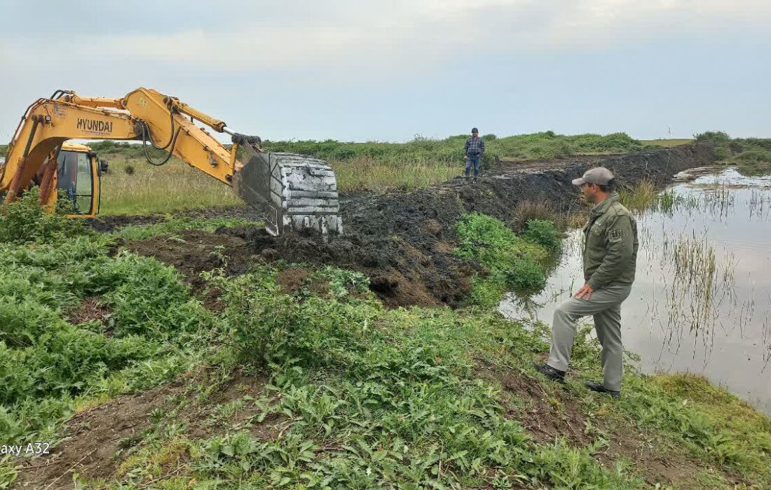
[{"label": "man in olive jacket and cap standing beside the water", "polygon": [[584,284],[554,312],[551,350],[538,371],[554,381],[564,381],[579,318],[594,316],[594,330],[602,346],[601,383],[587,381],[593,391],[621,394],[624,346],[621,344],[621,303],[629,296],[637,262],[637,223],[613,192],[610,170],[588,170],[573,183],[584,199],[594,203],[584,227]]}]

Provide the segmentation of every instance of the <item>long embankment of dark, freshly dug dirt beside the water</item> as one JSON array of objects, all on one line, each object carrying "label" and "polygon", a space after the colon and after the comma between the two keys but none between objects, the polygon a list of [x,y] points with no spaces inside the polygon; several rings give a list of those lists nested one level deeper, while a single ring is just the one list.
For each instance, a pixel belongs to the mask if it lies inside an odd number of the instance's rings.
[{"label": "long embankment of dark, freshly dug dirt beside the water", "polygon": [[[644,179],[663,186],[675,173],[714,160],[710,146],[676,146],[559,162],[504,162],[472,183],[456,178],[409,193],[342,196],[345,234],[340,237],[302,233],[271,237],[258,227],[238,227],[183,233],[183,242],[178,237],[174,243],[169,237],[152,237],[129,247],[157,256],[190,276],[217,266],[238,274],[255,260],[335,264],[368,275],[372,290],[389,306],[454,306],[466,297],[469,277],[479,270],[475,263],[452,255],[454,225],[463,213],[479,211],[508,222],[523,201],[547,202],[567,213],[582,206],[571,180],[593,166],[611,169],[620,186]],[[221,214],[244,216],[244,209]],[[142,222],[141,218],[121,220]],[[109,220],[99,224],[103,230],[110,227]]]}]

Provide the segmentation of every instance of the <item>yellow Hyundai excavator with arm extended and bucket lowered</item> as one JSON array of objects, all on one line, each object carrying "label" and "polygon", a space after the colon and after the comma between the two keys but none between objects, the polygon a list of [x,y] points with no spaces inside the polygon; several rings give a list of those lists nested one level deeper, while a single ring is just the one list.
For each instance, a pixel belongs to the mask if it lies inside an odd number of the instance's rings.
[{"label": "yellow Hyundai excavator with arm extended and bucket lowered", "polygon": [[[226,148],[196,122],[227,133],[232,146]],[[40,203],[48,209],[55,208],[61,195],[71,202],[72,216],[95,216],[107,163],[88,146],[69,139],[138,140],[147,162],[156,166],[176,156],[231,186],[263,214],[274,235],[305,229],[342,233],[335,173],[323,160],[265,152],[258,136],[235,133],[177,97],[144,88],[121,99],[57,90],[49,99],[32,103],[8,145],[5,163],[0,163],[2,200],[10,203],[39,186]],[[154,161],[151,146],[167,156]]]}]

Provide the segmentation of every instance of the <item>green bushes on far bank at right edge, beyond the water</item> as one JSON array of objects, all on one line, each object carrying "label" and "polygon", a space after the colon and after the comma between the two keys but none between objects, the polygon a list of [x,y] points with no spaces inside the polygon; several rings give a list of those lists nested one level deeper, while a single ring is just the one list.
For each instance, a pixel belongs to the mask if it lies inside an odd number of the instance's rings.
[{"label": "green bushes on far bank at right edge, beyond the water", "polygon": [[695,139],[714,144],[721,163],[735,165],[746,176],[771,174],[771,138],[731,138],[722,131],[707,131]]}]

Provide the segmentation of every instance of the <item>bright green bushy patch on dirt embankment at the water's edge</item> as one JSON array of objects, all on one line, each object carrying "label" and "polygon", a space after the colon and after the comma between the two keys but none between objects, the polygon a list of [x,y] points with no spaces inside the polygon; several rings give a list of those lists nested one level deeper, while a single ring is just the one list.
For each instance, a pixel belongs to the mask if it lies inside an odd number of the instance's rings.
[{"label": "bright green bushy patch on dirt embankment at the water's edge", "polygon": [[458,222],[455,254],[475,260],[487,268],[487,276],[476,277],[471,303],[494,307],[507,291],[534,294],[546,286],[545,266],[560,250],[561,233],[554,222],[530,220],[517,236],[500,220],[471,213]]}]

